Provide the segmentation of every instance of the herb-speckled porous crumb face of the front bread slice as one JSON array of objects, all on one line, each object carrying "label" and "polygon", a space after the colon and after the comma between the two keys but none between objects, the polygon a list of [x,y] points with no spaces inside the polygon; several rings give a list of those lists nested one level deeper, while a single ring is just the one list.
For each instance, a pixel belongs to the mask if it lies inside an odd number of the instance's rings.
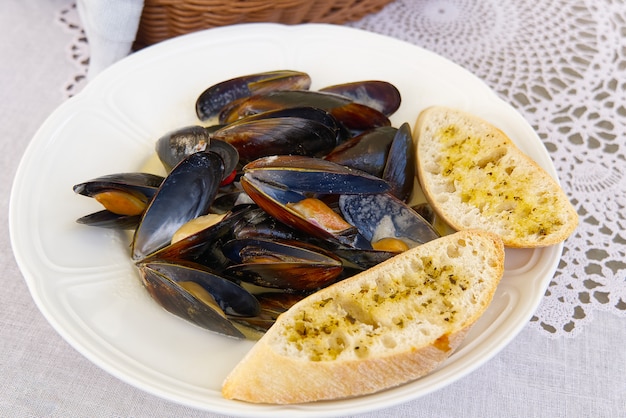
[{"label": "herb-speckled porous crumb face of the front bread slice", "polygon": [[331,296],[322,292],[283,318],[273,346],[282,355],[309,361],[393,355],[438,338],[437,347],[447,350],[445,336],[472,322],[473,312],[491,300],[485,288],[493,283],[483,283],[476,272],[496,270],[499,261],[489,258],[493,251],[482,254],[479,246],[459,238],[435,254],[396,260],[367,281],[339,283]]}]

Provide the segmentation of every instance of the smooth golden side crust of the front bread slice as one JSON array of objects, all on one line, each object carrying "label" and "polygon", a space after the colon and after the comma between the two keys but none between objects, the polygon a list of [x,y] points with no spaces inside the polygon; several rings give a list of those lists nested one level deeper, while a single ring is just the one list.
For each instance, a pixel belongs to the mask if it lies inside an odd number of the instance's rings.
[{"label": "smooth golden side crust of the front bread slice", "polygon": [[426,346],[393,357],[367,361],[311,363],[285,359],[258,342],[245,367],[235,369],[222,387],[227,399],[294,404],[350,398],[390,389],[434,370],[462,343],[470,327],[448,336],[449,350]]}]

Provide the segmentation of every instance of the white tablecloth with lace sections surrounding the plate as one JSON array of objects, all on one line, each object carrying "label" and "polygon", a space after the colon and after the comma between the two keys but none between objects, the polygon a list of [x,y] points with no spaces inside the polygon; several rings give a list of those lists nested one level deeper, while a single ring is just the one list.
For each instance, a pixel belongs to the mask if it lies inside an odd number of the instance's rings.
[{"label": "white tablecloth with lace sections surrounding the plate", "polygon": [[[626,4],[397,0],[349,25],[482,78],[535,128],[580,215],[537,312],[503,351],[443,390],[361,416],[624,416]],[[0,415],[217,416],[107,374],[35,306],[11,251],[11,183],[37,128],[86,83],[89,46],[68,0],[4,0],[0,32]]]}]

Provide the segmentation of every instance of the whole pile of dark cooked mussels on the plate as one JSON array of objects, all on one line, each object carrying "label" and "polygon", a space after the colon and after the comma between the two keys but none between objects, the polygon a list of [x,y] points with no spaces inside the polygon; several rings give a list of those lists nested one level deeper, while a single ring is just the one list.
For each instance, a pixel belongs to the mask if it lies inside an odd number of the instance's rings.
[{"label": "whole pile of dark cooked mussels on the plate", "polygon": [[[209,87],[196,103],[201,122],[156,141],[167,176],[75,185],[105,208],[78,222],[134,229],[132,258],[150,295],[238,338],[266,331],[307,294],[437,238],[406,203],[415,152],[409,125],[389,120],[397,88],[310,84],[284,70]],[[209,226],[173,239],[206,216]]]}]

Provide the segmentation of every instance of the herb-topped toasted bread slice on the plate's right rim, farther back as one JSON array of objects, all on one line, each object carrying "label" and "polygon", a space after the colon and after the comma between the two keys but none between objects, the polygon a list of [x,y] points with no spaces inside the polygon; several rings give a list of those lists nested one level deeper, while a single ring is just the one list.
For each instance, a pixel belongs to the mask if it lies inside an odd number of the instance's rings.
[{"label": "herb-topped toasted bread slice on the plate's right rim, farther back", "polygon": [[576,228],[559,184],[490,123],[431,107],[420,113],[414,136],[424,194],[453,229],[491,231],[508,247],[542,247]]}]

